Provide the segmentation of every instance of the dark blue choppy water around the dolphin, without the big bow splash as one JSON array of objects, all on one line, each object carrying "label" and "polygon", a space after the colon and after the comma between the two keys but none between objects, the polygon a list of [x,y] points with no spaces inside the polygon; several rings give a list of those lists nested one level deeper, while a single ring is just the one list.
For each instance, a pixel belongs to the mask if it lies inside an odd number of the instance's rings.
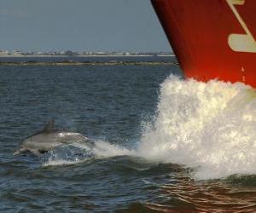
[{"label": "dark blue choppy water around the dolphin, without the big bow splash", "polygon": [[[255,212],[256,176],[196,181],[132,154],[176,66],[0,66],[0,212]],[[49,118],[96,141],[93,156],[14,157]],[[131,152],[130,152],[131,151]],[[82,152],[82,151],[81,151]],[[66,153],[66,155],[65,155]],[[51,156],[53,157],[53,156]]]}]

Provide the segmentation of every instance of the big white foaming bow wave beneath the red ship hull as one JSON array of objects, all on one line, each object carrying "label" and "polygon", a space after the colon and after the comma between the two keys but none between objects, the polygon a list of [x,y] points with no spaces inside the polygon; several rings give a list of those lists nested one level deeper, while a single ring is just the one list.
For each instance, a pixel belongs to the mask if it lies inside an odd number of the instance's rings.
[{"label": "big white foaming bow wave beneath the red ship hull", "polygon": [[161,84],[154,127],[137,154],[196,168],[200,179],[256,174],[256,92],[243,83]]}]

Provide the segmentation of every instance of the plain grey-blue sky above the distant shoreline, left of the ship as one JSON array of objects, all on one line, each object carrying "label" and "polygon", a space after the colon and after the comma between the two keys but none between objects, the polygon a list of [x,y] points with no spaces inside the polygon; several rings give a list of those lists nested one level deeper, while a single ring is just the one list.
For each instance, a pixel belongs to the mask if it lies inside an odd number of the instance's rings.
[{"label": "plain grey-blue sky above the distant shoreline, left of the ship", "polygon": [[149,0],[0,0],[0,49],[170,51]]}]

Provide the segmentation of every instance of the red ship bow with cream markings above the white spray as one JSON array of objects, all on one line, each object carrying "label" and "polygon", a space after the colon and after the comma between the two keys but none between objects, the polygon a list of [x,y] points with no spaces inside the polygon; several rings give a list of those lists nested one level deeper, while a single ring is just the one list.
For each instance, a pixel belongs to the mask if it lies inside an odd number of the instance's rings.
[{"label": "red ship bow with cream markings above the white spray", "polygon": [[187,78],[256,88],[256,0],[152,0]]}]

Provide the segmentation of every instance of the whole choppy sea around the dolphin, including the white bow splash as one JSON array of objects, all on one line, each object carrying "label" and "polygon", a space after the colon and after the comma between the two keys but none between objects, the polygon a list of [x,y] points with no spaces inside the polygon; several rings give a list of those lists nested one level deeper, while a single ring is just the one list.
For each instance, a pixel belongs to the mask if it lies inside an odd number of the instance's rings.
[{"label": "whole choppy sea around the dolphin, including the white bow splash", "polygon": [[[0,212],[256,211],[254,89],[175,65],[0,73]],[[49,118],[93,147],[13,156]]]}]

